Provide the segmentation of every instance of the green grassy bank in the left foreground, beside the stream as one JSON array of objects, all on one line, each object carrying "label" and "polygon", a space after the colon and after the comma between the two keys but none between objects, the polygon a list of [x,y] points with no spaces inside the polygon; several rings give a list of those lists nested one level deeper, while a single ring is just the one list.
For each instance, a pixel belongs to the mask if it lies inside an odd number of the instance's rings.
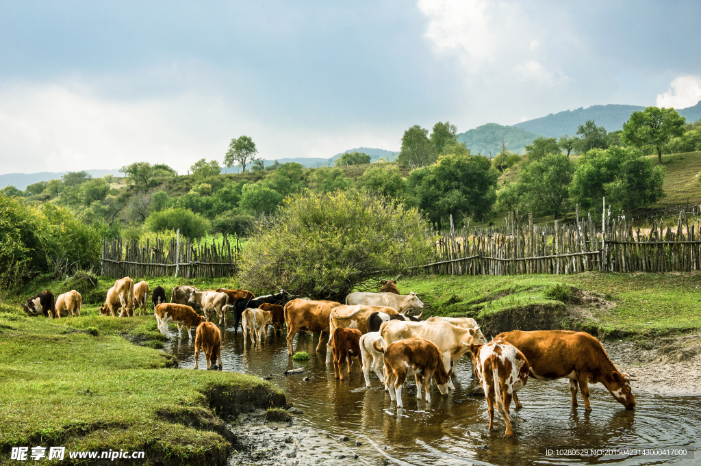
[{"label": "green grassy bank in the left foreground, beside the stream", "polygon": [[0,306],[0,463],[12,446],[42,445],[145,451],[139,464],[224,464],[236,442],[225,421],[284,406],[259,378],[175,369],[170,355],[130,343],[161,339],[153,315],[50,320]]}]

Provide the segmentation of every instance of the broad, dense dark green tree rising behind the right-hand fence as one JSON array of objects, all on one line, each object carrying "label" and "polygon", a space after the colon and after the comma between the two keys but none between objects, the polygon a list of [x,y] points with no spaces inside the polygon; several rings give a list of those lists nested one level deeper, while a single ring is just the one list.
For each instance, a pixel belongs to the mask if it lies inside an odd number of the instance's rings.
[{"label": "broad, dense dark green tree rising behind the right-hand fence", "polygon": [[577,163],[569,193],[585,210],[601,212],[601,198],[615,210],[631,211],[665,196],[665,168],[632,147],[592,149]]}]

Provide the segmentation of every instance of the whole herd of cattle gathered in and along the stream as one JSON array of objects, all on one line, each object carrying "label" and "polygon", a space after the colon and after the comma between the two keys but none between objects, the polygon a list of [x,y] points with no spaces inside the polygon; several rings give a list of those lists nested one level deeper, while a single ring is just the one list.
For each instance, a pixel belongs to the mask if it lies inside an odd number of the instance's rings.
[{"label": "whole herd of cattle gathered in and along the stream", "polygon": [[[319,333],[320,350],[324,334],[328,334],[326,363],[333,364],[335,378],[343,380],[343,366],[351,357],[362,363],[365,384],[371,386],[374,372],[389,392],[390,399],[402,407],[402,386],[408,376],[416,380],[416,397],[426,393],[430,402],[431,381],[440,393],[446,395],[455,386],[451,381],[456,363],[464,356],[472,359],[472,374],[484,389],[489,412],[489,429],[497,407],[506,425],[506,435],[513,435],[510,423],[510,404],[522,407],[516,392],[526,385],[529,377],[541,381],[568,378],[572,407],[576,408],[577,393],[581,390],[585,409],[589,402],[590,383],[602,383],[616,401],[633,409],[635,399],[629,381],[634,380],[618,371],[599,341],[583,332],[573,331],[508,331],[498,334],[487,343],[475,320],[468,317],[430,317],[421,320],[423,303],[414,292],[402,295],[395,280],[383,280],[379,293],[355,292],[348,294],[345,304],[337,301],[314,301],[292,296],[285,290],[276,294],[255,297],[240,289],[200,291],[195,287],[177,286],[166,302],[163,287],[152,294],[154,315],[158,330],[171,338],[168,324],[177,324],[178,338],[186,327],[191,339],[195,327],[195,369],[200,350],[205,353],[207,369],[222,369],[222,336],[212,320],[228,326],[227,313],[233,312],[234,328],[242,326],[244,342],[260,344],[262,336],[273,327],[273,335],[282,333],[287,326],[287,353],[293,355],[292,341],[298,332]],[[116,280],[107,292],[100,315],[129,317],[135,307],[147,310],[149,285],[136,285],[129,277]],[[29,315],[58,318],[79,316],[81,295],[74,291],[61,294],[54,301],[46,290],[25,303]],[[197,310],[201,311],[200,313]],[[421,310],[410,316],[410,310]]]}]

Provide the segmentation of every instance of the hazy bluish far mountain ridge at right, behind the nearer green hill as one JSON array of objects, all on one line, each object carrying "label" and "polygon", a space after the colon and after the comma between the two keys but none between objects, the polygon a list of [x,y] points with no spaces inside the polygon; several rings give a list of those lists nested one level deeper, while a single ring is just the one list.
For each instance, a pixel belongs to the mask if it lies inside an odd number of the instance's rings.
[{"label": "hazy bluish far mountain ridge at right, behind the nearer green hill", "polygon": [[[575,135],[579,125],[587,120],[594,120],[597,125],[603,126],[606,130],[615,131],[623,128],[623,123],[628,121],[630,114],[644,109],[645,107],[638,105],[592,105],[587,109],[580,107],[576,110],[560,111],[557,114],[524,121],[514,126],[549,137],[560,137],[562,135]],[[686,118],[686,121],[696,121],[701,118],[701,102],[693,107],[677,109],[677,111]]]}]

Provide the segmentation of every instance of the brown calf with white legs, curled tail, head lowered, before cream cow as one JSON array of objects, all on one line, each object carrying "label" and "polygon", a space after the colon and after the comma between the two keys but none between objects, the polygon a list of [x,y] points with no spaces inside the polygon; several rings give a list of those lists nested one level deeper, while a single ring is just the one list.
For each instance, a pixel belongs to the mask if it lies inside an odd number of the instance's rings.
[{"label": "brown calf with white legs, curled tail, head lowered, before cream cow", "polygon": [[416,376],[416,399],[421,399],[421,385],[426,390],[426,403],[431,402],[431,379],[435,378],[441,395],[448,395],[450,369],[444,368],[441,352],[435,343],[422,338],[407,338],[390,343],[385,347],[382,341],[372,343],[375,351],[384,355],[386,385],[389,386],[390,399],[397,401],[402,408],[402,385],[407,376]]}]

